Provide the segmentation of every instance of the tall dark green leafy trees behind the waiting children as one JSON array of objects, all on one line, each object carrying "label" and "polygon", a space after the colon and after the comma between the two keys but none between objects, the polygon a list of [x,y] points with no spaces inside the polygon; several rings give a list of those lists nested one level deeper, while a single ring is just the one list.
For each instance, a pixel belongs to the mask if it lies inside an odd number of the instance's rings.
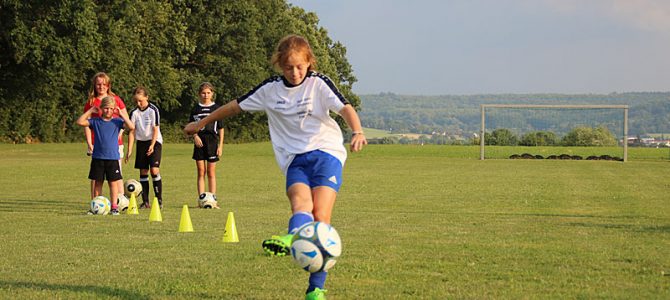
[{"label": "tall dark green leafy trees behind the waiting children", "polygon": [[[317,70],[358,107],[346,47],[318,23],[285,0],[2,0],[0,142],[83,140],[74,120],[101,71],[130,108],[132,90],[144,86],[164,135],[178,139],[200,83],[215,86],[219,104],[243,95],[276,73],[270,56],[292,33],[309,40]],[[225,127],[227,141],[269,139],[264,114],[241,114]]]}]

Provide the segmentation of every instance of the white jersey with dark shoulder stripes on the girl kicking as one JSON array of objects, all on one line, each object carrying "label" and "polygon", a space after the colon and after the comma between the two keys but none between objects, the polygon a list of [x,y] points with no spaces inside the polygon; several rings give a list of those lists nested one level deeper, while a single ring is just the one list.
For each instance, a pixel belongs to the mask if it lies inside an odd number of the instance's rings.
[{"label": "white jersey with dark shoulder stripes on the girl kicking", "polygon": [[335,156],[344,166],[347,150],[330,111],[339,113],[349,102],[325,75],[308,72],[297,86],[274,76],[237,102],[244,111],[267,113],[275,158],[284,174],[296,154],[313,150]]}]

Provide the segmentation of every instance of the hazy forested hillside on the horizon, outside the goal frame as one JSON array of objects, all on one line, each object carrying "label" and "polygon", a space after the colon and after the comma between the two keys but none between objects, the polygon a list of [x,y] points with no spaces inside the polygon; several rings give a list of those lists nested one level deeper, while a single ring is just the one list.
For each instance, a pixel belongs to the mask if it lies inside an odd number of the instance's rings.
[{"label": "hazy forested hillside on the horizon, outside the goal frame", "polygon": [[[629,136],[670,132],[670,92],[465,96],[380,93],[360,95],[360,98],[363,126],[393,132],[452,135],[478,132],[481,104],[628,105]],[[517,121],[522,123],[517,124],[520,127],[534,126],[532,120],[520,118]]]}]

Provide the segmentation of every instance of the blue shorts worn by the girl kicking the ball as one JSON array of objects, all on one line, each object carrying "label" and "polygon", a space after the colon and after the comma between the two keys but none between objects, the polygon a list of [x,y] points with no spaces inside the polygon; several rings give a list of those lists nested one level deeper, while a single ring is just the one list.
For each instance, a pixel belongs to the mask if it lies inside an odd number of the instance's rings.
[{"label": "blue shorts worn by the girl kicking the ball", "polygon": [[298,154],[286,171],[286,190],[295,183],[304,183],[312,189],[327,186],[339,192],[342,163],[321,150]]}]

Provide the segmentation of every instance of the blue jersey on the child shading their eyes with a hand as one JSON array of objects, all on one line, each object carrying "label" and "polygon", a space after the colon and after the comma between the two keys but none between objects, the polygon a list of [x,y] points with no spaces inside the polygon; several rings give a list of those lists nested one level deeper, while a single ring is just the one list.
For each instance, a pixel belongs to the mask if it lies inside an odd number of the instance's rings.
[{"label": "blue jersey on the child shading their eyes with a hand", "polygon": [[88,120],[91,133],[95,135],[95,147],[91,157],[95,159],[119,160],[119,144],[116,138],[119,131],[123,128],[123,119],[112,118],[105,121],[102,118],[93,117]]}]

